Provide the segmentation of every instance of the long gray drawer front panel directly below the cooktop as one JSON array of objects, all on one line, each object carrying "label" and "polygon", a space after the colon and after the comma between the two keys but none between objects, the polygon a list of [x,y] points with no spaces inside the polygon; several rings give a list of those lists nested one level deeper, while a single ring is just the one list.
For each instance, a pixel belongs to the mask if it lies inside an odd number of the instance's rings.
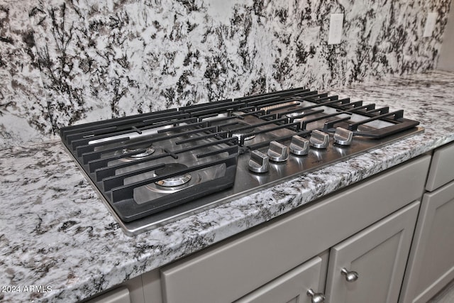
[{"label": "long gray drawer front panel directly below the cooktop", "polygon": [[[165,302],[232,302],[421,198],[430,156],[162,268]],[[194,278],[196,277],[196,278]]]}]

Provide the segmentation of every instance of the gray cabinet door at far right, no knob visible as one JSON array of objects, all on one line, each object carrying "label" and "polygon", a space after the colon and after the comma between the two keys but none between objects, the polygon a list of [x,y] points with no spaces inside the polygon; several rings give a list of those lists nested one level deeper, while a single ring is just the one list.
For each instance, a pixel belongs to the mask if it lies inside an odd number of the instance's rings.
[{"label": "gray cabinet door at far right, no knob visible", "polygon": [[400,302],[427,302],[454,278],[454,182],[424,194]]}]

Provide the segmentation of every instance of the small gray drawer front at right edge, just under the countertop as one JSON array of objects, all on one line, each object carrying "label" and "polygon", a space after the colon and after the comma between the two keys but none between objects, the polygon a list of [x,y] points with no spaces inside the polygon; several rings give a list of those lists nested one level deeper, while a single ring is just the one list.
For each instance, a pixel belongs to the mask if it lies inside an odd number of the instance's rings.
[{"label": "small gray drawer front at right edge, just under the countertop", "polygon": [[432,192],[452,180],[454,180],[454,144],[438,148],[433,153],[426,189]]}]

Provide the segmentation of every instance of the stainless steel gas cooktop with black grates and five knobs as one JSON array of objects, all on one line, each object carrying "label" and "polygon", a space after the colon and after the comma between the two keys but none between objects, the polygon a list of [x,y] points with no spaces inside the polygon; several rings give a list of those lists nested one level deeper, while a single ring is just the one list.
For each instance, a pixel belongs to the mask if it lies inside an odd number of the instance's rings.
[{"label": "stainless steel gas cooktop with black grates and five knobs", "polygon": [[404,111],[288,89],[61,128],[137,234],[423,131]]}]

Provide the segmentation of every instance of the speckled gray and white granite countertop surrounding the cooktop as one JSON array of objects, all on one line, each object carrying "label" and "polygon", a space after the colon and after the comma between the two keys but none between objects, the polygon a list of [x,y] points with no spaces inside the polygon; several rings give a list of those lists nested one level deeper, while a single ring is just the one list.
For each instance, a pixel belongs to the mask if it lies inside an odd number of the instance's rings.
[{"label": "speckled gray and white granite countertop surrounding the cooktop", "polygon": [[454,141],[454,73],[394,77],[332,94],[404,109],[425,131],[138,236],[121,231],[60,141],[0,150],[0,285],[20,287],[0,292],[0,301],[90,297]]}]

